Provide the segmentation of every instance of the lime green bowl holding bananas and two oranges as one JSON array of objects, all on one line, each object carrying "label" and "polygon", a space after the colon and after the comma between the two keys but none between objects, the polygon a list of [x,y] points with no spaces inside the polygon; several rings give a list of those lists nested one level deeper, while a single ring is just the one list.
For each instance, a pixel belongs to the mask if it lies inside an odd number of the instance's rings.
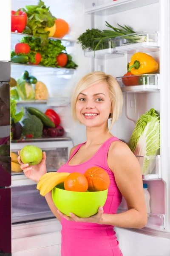
[{"label": "lime green bowl holding bananas and two oranges", "polygon": [[44,196],[52,190],[55,206],[65,215],[70,212],[81,218],[87,218],[104,206],[108,195],[110,179],[108,173],[92,167],[85,174],[79,172],[50,172],[40,178],[37,189]]}]

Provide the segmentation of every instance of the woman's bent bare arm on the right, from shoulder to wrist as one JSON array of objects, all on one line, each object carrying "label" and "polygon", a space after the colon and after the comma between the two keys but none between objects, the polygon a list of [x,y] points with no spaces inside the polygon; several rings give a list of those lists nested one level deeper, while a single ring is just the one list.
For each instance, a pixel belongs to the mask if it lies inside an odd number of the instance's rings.
[{"label": "woman's bent bare arm on the right, from shoulder to wrist", "polygon": [[143,228],[147,224],[147,210],[141,169],[137,158],[125,143],[114,142],[109,149],[108,166],[127,202],[128,211],[119,214],[103,214],[101,224]]}]

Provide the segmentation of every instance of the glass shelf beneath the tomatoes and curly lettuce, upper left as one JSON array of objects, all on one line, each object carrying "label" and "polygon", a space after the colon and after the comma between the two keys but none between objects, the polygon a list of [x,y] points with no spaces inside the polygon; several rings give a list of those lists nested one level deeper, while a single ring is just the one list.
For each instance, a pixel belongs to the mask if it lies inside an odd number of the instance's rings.
[{"label": "glass shelf beneath the tomatoes and curly lettuce, upper left", "polygon": [[74,71],[75,69],[73,68],[65,68],[65,67],[45,67],[45,66],[41,66],[41,65],[32,65],[32,64],[25,64],[25,63],[14,63],[14,62],[11,62],[11,65],[13,66],[27,66],[27,67],[30,67],[30,68],[48,68],[48,69],[51,69],[57,73],[62,73],[62,74],[74,74]]}]

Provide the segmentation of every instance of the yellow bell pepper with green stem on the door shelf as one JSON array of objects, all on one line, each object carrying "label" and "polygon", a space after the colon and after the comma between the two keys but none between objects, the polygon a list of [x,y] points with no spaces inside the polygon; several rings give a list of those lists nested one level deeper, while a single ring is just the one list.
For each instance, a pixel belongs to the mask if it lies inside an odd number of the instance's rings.
[{"label": "yellow bell pepper with green stem on the door shelf", "polygon": [[143,52],[136,52],[133,54],[127,70],[133,75],[141,75],[155,72],[157,69],[158,63],[152,56]]}]

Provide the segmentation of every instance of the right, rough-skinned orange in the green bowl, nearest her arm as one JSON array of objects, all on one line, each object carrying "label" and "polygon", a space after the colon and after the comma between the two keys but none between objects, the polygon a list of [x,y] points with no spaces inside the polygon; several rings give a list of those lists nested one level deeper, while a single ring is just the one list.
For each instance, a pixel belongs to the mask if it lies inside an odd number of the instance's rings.
[{"label": "right, rough-skinned orange in the green bowl, nearest her arm", "polygon": [[88,180],[88,191],[90,192],[106,190],[110,185],[109,175],[102,168],[91,167],[84,175]]}]

